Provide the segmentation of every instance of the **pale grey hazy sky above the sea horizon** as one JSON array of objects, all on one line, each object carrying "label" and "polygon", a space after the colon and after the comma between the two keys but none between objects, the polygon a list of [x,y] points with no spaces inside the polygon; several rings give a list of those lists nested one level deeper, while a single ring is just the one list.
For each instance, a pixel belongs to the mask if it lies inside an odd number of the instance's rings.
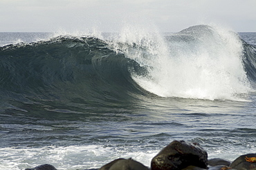
[{"label": "pale grey hazy sky above the sea horizon", "polygon": [[125,24],[178,32],[202,23],[256,32],[256,0],[0,0],[0,32],[119,32]]}]

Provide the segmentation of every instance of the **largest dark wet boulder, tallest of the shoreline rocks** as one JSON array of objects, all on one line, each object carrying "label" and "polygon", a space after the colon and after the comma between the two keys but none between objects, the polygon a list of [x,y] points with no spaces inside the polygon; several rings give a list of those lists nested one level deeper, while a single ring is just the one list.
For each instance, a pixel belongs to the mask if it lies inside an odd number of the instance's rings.
[{"label": "largest dark wet boulder, tallest of the shoreline rocks", "polygon": [[180,170],[190,165],[207,169],[208,155],[198,144],[174,140],[151,161],[152,170]]}]

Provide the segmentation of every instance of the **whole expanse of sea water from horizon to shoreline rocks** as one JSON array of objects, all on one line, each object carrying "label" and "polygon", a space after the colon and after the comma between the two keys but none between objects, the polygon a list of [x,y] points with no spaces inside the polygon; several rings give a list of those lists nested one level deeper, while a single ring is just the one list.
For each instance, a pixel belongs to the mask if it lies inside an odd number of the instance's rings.
[{"label": "whole expanse of sea water from horizon to shoreline rocks", "polygon": [[0,33],[0,169],[146,166],[173,140],[256,153],[256,33]]}]

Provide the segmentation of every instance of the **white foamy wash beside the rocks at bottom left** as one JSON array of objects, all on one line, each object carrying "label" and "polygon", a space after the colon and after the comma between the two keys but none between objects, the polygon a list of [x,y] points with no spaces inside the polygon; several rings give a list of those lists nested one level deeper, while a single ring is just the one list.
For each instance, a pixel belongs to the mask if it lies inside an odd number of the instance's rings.
[{"label": "white foamy wash beside the rocks at bottom left", "polygon": [[131,148],[102,147],[97,145],[42,147],[42,148],[0,148],[0,169],[26,169],[40,164],[53,164],[60,170],[100,168],[117,158],[133,158],[150,166],[158,151],[127,151]]}]

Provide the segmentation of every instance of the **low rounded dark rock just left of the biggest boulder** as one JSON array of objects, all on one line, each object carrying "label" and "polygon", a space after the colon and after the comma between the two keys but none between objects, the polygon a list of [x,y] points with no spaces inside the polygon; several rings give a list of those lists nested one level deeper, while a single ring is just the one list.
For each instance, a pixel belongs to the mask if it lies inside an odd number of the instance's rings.
[{"label": "low rounded dark rock just left of the biggest boulder", "polygon": [[109,162],[108,164],[105,164],[103,167],[101,167],[99,170],[149,170],[147,167],[145,167],[140,162],[137,162],[136,160],[129,159],[117,159],[113,160],[112,162]]}]

